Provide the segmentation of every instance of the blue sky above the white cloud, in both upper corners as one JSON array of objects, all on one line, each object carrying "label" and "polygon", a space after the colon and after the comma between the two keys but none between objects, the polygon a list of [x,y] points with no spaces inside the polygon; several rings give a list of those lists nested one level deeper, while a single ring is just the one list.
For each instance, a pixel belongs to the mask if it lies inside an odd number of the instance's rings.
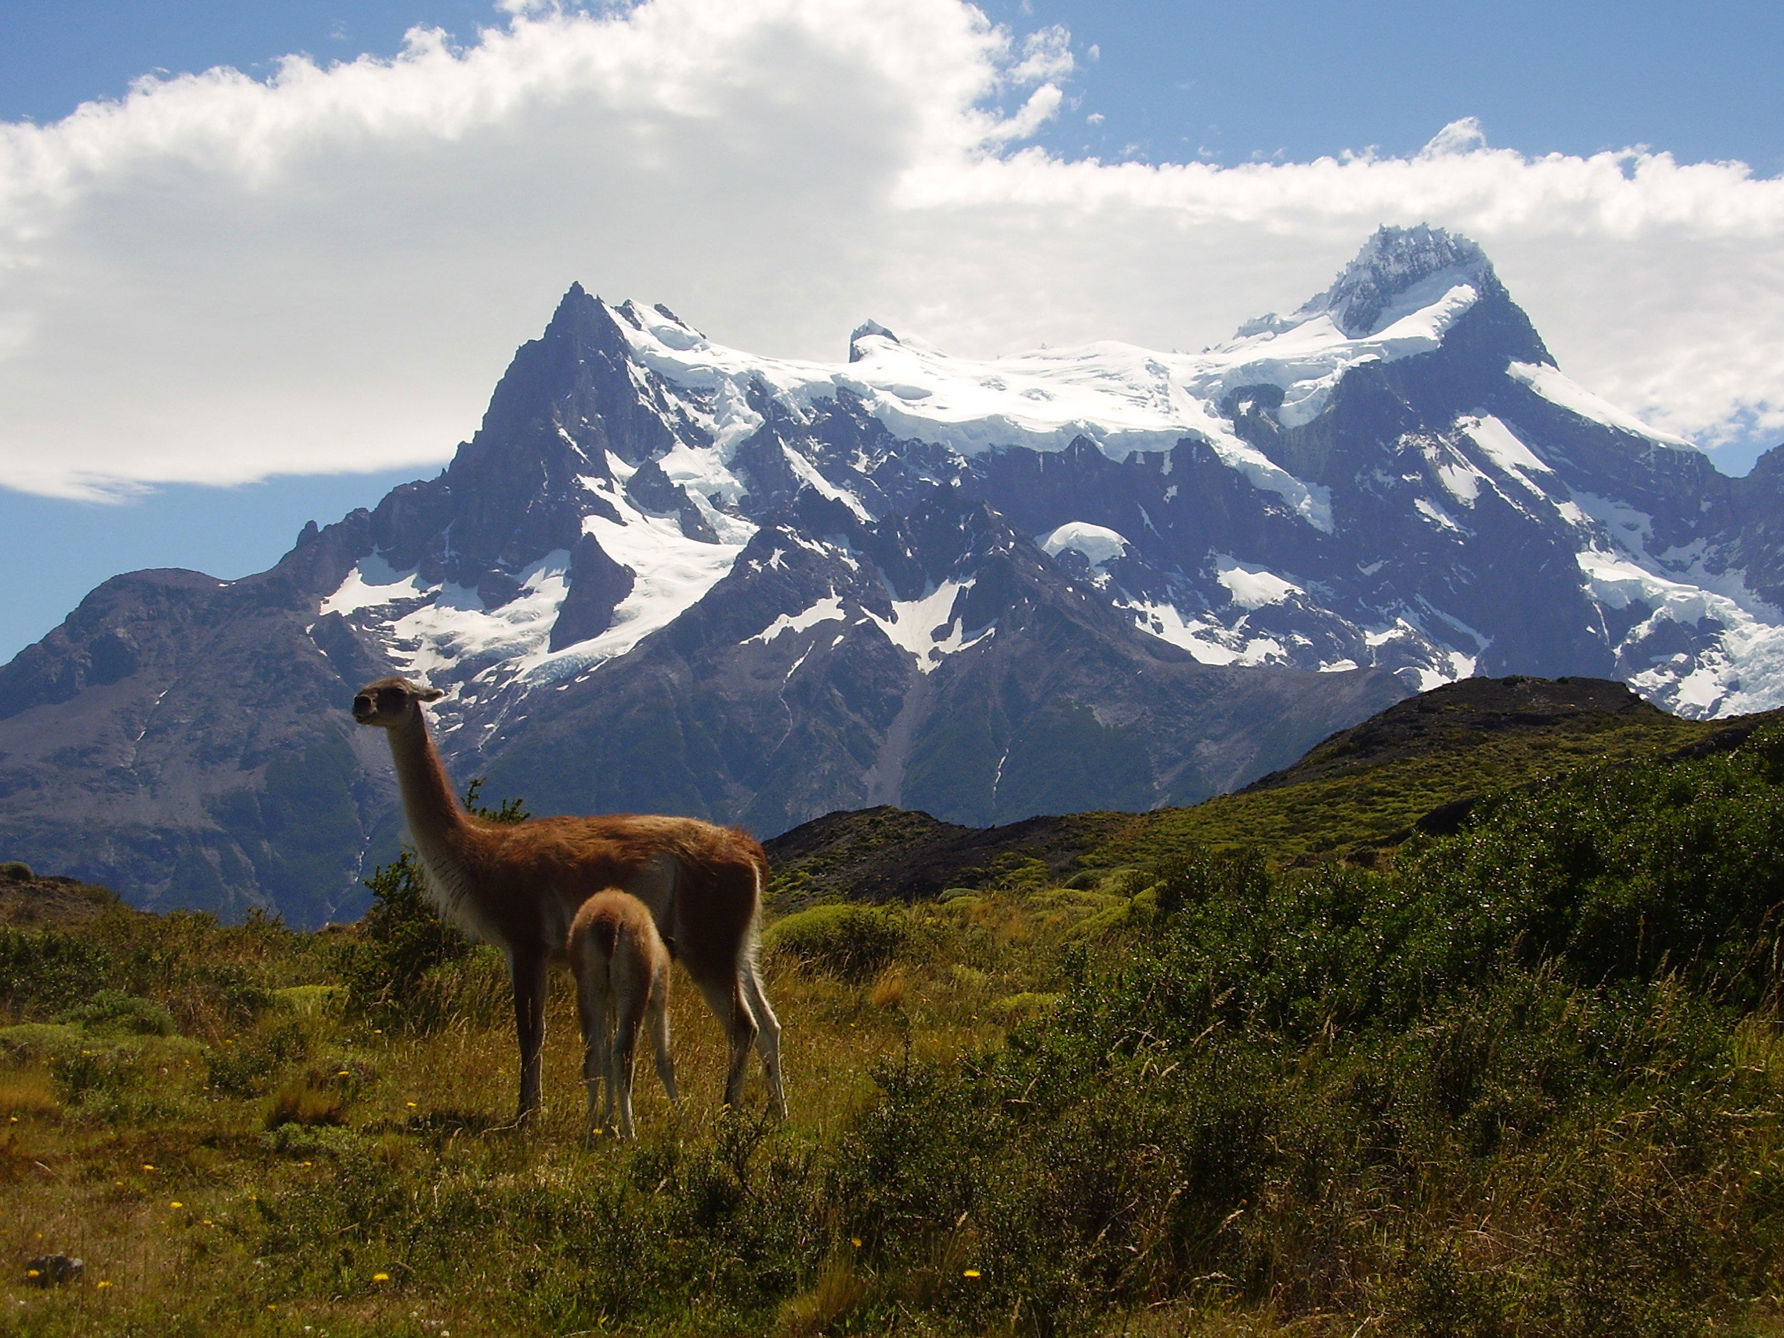
[{"label": "blue sky above the white cloud, in both upper corners", "polygon": [[[992,20],[1065,25],[1083,52],[1076,116],[1038,143],[1067,155],[1224,162],[1381,146],[1408,153],[1474,116],[1525,153],[1650,145],[1684,161],[1784,169],[1784,5],[1606,0],[994,0]],[[0,120],[61,120],[152,70],[289,52],[391,55],[430,23],[469,37],[483,0],[0,0]],[[1085,116],[1101,112],[1088,125]]]}]

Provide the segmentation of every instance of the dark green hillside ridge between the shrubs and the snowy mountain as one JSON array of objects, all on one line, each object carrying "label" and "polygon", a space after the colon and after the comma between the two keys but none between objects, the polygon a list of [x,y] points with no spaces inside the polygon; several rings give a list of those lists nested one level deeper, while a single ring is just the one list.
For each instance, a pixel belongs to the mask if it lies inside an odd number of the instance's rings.
[{"label": "dark green hillside ridge between the shrubs and the snowy mountain", "polygon": [[1058,876],[1252,849],[1272,863],[1372,863],[1415,831],[1450,833],[1472,801],[1600,762],[1722,749],[1784,712],[1686,721],[1602,678],[1466,678],[1333,735],[1286,771],[1193,808],[1072,814],[958,828],[872,808],[769,842],[787,904],[814,897],[917,899],[1042,862]]}]

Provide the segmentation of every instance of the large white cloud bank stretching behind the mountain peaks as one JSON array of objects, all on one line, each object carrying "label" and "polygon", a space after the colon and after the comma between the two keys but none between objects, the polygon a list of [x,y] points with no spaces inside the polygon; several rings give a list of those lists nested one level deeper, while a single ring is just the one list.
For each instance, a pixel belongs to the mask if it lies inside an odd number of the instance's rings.
[{"label": "large white cloud bank stretching behind the mountain peaks", "polygon": [[1061,162],[1020,139],[1067,34],[958,0],[503,9],[462,48],[0,127],[0,482],[435,464],[574,278],[764,353],[840,357],[867,312],[962,353],[1183,348],[1416,221],[1488,248],[1573,380],[1706,442],[1784,432],[1784,182],[1741,164],[1468,121],[1411,159]]}]

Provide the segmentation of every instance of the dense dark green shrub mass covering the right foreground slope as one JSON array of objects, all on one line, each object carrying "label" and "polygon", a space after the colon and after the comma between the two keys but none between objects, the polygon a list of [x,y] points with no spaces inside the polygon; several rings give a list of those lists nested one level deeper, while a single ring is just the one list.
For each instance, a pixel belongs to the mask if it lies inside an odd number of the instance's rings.
[{"label": "dense dark green shrub mass covering the right foreground slope", "polygon": [[1131,951],[1003,1051],[881,1069],[842,1231],[942,1331],[1739,1331],[1784,1231],[1784,1070],[1736,1044],[1780,987],[1780,756],[1577,774],[1399,872],[1151,871]]}]

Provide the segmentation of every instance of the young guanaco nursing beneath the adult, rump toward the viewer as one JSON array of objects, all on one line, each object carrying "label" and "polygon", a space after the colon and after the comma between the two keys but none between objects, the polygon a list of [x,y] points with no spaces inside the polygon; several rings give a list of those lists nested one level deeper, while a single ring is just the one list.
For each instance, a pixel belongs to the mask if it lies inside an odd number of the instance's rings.
[{"label": "young guanaco nursing beneath the adult, rump toward the viewer", "polygon": [[[632,1138],[632,1060],[644,1024],[651,1029],[657,1076],[676,1101],[669,1058],[669,949],[642,901],[607,888],[582,903],[569,926],[569,967],[576,974],[589,1131],[612,1129],[617,1106],[619,1136]],[[596,1088],[603,1081],[607,1104],[598,1122]]]}]

